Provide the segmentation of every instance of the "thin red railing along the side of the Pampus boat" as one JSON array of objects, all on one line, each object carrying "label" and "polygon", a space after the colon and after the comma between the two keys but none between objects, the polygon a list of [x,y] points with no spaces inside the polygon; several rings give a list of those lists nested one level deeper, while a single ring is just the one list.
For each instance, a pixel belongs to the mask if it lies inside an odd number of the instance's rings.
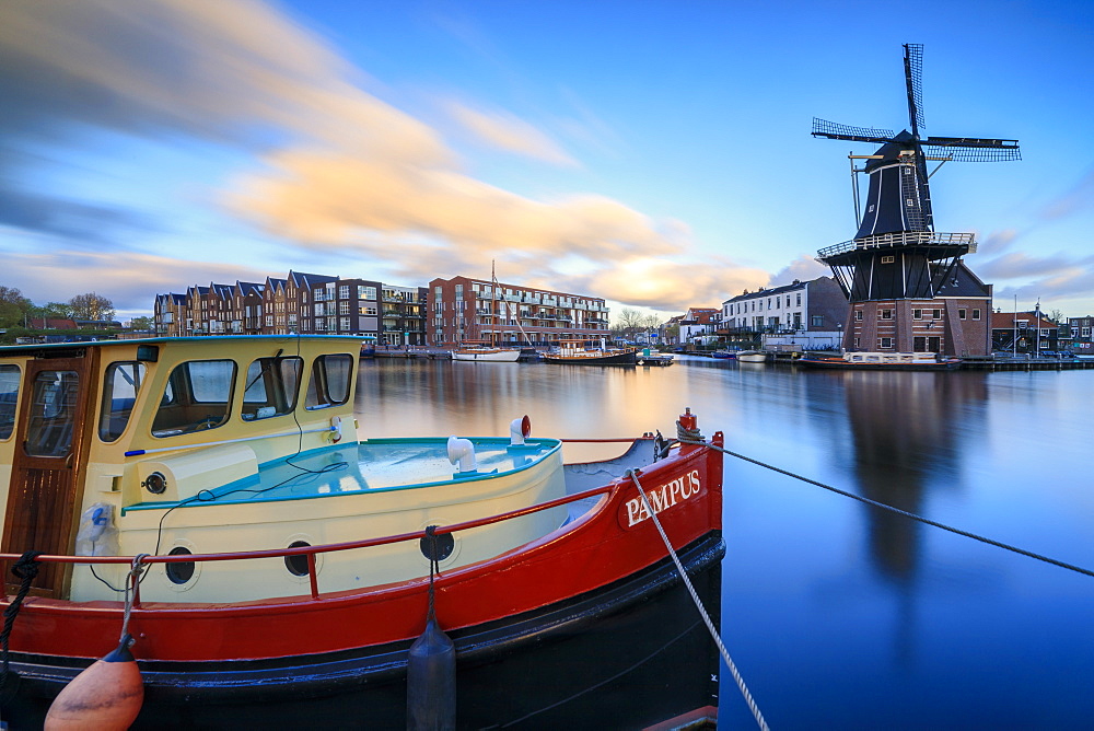
[{"label": "thin red railing along the side of the Pampus boat", "polygon": [[[644,439],[645,437],[639,438]],[[563,439],[562,442],[569,443],[608,443],[608,442],[636,442],[636,439]],[[459,531],[468,531],[476,527],[482,527],[485,525],[492,525],[496,523],[501,523],[509,520],[515,520],[517,518],[523,518],[525,515],[531,515],[533,513],[542,512],[544,510],[550,510],[551,508],[558,508],[560,506],[569,504],[571,502],[580,502],[581,500],[587,500],[589,498],[596,497],[598,495],[607,495],[614,490],[619,489],[628,480],[626,478],[620,478],[608,483],[607,485],[601,485],[597,487],[592,487],[585,490],[574,492],[572,495],[567,495],[560,498],[555,498],[552,500],[547,500],[545,502],[539,502],[534,506],[528,506],[526,508],[520,508],[517,510],[510,510],[503,513],[497,513],[494,515],[488,515],[486,518],[477,518],[469,521],[464,521],[462,523],[453,523],[452,525],[438,525],[434,527],[434,535],[445,535],[450,533],[457,533]],[[144,567],[155,564],[190,564],[190,562],[209,562],[209,561],[234,561],[234,560],[249,560],[255,558],[289,558],[292,556],[306,556],[307,558],[307,577],[309,577],[309,594],[313,601],[318,601],[322,599],[322,592],[319,591],[317,572],[315,568],[315,557],[318,554],[337,553],[342,550],[356,550],[360,548],[372,548],[375,546],[385,546],[395,543],[403,543],[405,541],[420,541],[424,538],[429,533],[428,529],[420,531],[412,531],[410,533],[399,533],[395,535],[385,535],[375,538],[363,538],[361,541],[349,541],[344,543],[330,543],[316,546],[295,546],[290,548],[268,548],[264,550],[245,550],[245,552],[232,552],[223,554],[176,554],[176,555],[165,555],[165,556],[150,556],[147,554],[141,555],[140,564]],[[21,556],[19,554],[0,554],[0,561],[18,561]],[[133,556],[50,556],[50,555],[39,555],[34,557],[35,561],[44,564],[72,564],[72,565],[125,565],[132,566],[137,562],[137,557]],[[133,575],[130,573],[130,578]],[[140,582],[133,581],[133,608],[140,608]],[[287,597],[291,599],[291,597]]]}]

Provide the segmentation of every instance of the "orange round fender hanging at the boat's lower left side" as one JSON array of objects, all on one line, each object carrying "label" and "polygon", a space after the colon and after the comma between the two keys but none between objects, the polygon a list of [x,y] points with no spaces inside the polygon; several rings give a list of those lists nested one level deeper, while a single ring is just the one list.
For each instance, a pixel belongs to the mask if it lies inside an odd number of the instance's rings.
[{"label": "orange round fender hanging at the boat's lower left side", "polygon": [[46,715],[46,731],[124,731],[137,720],[144,703],[144,684],[129,652],[132,641],[130,635],[123,636],[116,650],[85,668],[61,689]]}]

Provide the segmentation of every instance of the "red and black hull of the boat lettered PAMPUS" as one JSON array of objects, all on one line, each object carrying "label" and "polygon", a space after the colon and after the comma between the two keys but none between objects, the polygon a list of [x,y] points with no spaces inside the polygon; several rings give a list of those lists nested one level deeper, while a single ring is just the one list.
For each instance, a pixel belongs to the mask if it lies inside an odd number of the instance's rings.
[{"label": "red and black hull of the boat lettered PAMPUS", "polygon": [[[638,476],[717,622],[721,453],[685,445]],[[612,708],[586,697],[590,687],[627,695],[643,724],[714,703],[713,642],[630,479],[566,530],[445,572],[435,590],[438,620],[456,646],[461,727]],[[383,726],[400,726],[407,649],[428,602],[428,580],[414,580],[318,599],[141,605],[129,624],[146,683],[138,727],[252,723],[263,712],[314,726],[315,713],[377,708]],[[44,713],[71,676],[117,645],[121,614],[119,603],[27,597],[11,634],[18,681],[4,689],[5,718]],[[679,662],[698,670],[677,683],[666,663]],[[652,694],[645,683],[674,687]],[[672,703],[662,708],[661,696]]]}]

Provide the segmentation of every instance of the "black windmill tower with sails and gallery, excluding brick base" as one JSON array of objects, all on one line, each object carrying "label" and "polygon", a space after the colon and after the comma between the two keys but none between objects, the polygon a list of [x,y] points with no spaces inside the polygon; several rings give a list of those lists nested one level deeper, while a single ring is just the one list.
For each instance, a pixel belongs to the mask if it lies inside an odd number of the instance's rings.
[{"label": "black windmill tower with sails and gallery, excluding brick base", "polygon": [[[852,172],[870,177],[865,210],[853,240],[817,252],[853,304],[871,300],[933,299],[952,279],[965,254],[976,251],[970,233],[934,230],[930,177],[945,162],[1021,160],[1017,140],[977,137],[921,137],[923,47],[904,46],[909,129],[850,127],[813,119],[813,136],[878,144],[869,155],[851,155]],[[854,160],[865,165],[854,167]],[[939,162],[928,173],[928,162]]]}]

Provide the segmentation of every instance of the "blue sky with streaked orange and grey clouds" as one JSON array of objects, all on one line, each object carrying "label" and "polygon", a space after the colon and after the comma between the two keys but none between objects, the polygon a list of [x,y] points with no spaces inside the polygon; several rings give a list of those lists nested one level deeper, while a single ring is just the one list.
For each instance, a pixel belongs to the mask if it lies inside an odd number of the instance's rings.
[{"label": "blue sky with streaked orange and grey clouds", "polygon": [[[1017,139],[943,165],[996,306],[1094,314],[1094,3],[2,0],[0,285],[155,294],[289,269],[663,316],[829,274],[856,231],[813,117]],[[863,182],[864,192],[864,182]]]}]

